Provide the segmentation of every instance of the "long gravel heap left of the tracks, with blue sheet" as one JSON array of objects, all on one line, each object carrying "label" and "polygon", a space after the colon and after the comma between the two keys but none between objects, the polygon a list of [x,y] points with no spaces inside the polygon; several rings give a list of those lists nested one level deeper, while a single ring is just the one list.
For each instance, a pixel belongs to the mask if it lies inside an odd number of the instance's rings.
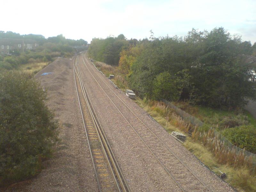
[{"label": "long gravel heap left of the tracks, with blue sheet", "polygon": [[[44,72],[51,75],[41,76]],[[47,105],[60,121],[60,144],[53,158],[43,163],[36,177],[16,183],[4,191],[80,192],[97,191],[92,160],[84,133],[73,75],[73,60],[58,58],[36,79],[48,89]],[[1,190],[1,189],[0,189]]]}]

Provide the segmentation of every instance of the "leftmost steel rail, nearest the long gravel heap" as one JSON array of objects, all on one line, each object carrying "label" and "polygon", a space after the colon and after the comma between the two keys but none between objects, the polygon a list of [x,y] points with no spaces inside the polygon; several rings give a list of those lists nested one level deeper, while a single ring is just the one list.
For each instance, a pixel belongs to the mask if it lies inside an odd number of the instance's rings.
[{"label": "leftmost steel rail, nearest the long gravel heap", "polygon": [[[78,56],[74,58],[74,67],[73,67],[73,69],[74,69],[75,85],[76,85],[75,61],[76,61],[76,63],[77,63],[77,59],[78,59]],[[88,138],[88,133],[87,133],[87,130],[86,130],[86,127],[85,127],[85,123],[84,123],[84,115],[83,115],[82,107],[81,107],[81,104],[80,104],[80,99],[79,99],[79,95],[78,95],[77,85],[76,85],[76,93],[77,93],[77,98],[78,98],[78,103],[79,103],[80,111],[81,111],[81,114],[82,114],[82,119],[83,119],[83,124],[84,124],[84,130],[85,130],[86,139],[87,139],[87,142],[88,142],[88,147],[89,147],[89,151],[90,151],[91,158],[92,158],[92,164],[93,164],[93,169],[94,169],[94,172],[95,172],[95,177],[96,177],[96,180],[97,180],[98,189],[99,189],[99,191],[101,192],[100,181],[99,181],[99,179],[98,179],[98,174],[97,174],[96,167],[95,167],[94,160],[93,160],[93,156],[92,156],[92,149],[91,149],[91,145],[90,145],[89,138]]]}]

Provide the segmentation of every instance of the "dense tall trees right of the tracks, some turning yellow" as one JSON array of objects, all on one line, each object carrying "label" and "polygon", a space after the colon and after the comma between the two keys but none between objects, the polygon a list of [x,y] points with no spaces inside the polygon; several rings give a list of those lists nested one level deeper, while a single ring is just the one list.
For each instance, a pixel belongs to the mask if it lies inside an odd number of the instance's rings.
[{"label": "dense tall trees right of the tracks, some turning yellow", "polygon": [[141,98],[187,100],[218,108],[236,108],[256,99],[251,82],[255,65],[246,56],[256,44],[224,28],[192,29],[184,37],[94,38],[88,50],[95,60],[118,66]]}]

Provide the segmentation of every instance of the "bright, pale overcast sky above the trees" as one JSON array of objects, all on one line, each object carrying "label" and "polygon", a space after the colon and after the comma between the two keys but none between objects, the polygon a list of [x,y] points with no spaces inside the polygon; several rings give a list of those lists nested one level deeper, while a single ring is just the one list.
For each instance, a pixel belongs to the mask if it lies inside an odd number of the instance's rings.
[{"label": "bright, pale overcast sky above the trees", "polygon": [[256,0],[3,0],[0,30],[70,39],[143,39],[224,27],[256,42]]}]

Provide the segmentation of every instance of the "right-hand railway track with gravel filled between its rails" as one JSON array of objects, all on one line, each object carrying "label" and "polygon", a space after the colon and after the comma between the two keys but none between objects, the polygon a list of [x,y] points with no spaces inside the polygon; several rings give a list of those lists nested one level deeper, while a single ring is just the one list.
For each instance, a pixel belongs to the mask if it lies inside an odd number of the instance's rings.
[{"label": "right-hand railway track with gravel filled between its rails", "polygon": [[[141,119],[138,117],[124,101],[112,90],[102,77],[97,73],[97,69],[92,65],[88,65],[90,61],[82,55],[82,59],[85,67],[88,69],[92,78],[96,81],[99,87],[106,94],[111,103],[115,106],[118,112],[123,116],[127,124],[132,130],[138,135],[140,140],[145,144],[148,150],[153,154],[159,164],[164,168],[167,174],[175,181],[181,191],[210,191],[210,189],[191,169],[183,163],[183,161],[173,153],[173,151],[167,147],[164,142],[157,137],[153,132],[153,128],[149,128]],[[85,61],[86,62],[85,62]],[[91,70],[96,74],[93,75]],[[100,79],[103,84],[95,78]],[[131,115],[132,114],[132,115]],[[153,130],[153,131],[152,131]]]}]

